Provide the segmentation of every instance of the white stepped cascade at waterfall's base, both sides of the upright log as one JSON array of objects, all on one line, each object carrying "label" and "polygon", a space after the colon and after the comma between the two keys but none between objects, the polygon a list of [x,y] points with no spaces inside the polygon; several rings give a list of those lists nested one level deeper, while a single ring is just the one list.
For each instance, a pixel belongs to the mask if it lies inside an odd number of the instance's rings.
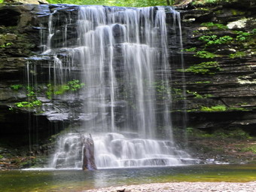
[{"label": "white stepped cascade at waterfall's base, both sides of the upright log", "polygon": [[[135,133],[107,133],[93,136],[95,161],[98,169],[177,166],[194,162],[190,155],[169,140],[140,139]],[[81,135],[69,133],[59,139],[58,149],[50,167],[75,168],[82,166]]]}]

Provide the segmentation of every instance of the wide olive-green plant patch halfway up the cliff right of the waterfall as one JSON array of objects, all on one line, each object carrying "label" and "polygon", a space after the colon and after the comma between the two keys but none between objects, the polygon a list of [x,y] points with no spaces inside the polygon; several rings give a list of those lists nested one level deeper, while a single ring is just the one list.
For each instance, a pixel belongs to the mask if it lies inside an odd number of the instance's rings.
[{"label": "wide olive-green plant patch halfway up the cliff right of the waterfall", "polygon": [[218,71],[221,71],[218,62],[201,62],[187,69],[178,69],[178,72],[193,72],[200,75],[215,75]]}]

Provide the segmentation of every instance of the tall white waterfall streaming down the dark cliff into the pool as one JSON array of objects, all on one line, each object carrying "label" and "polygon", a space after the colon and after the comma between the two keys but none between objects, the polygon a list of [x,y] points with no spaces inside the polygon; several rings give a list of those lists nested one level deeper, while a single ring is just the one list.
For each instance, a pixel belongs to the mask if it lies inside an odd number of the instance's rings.
[{"label": "tall white waterfall streaming down the dark cliff into the pool", "polygon": [[[50,14],[43,55],[53,57],[54,84],[74,77],[85,84],[83,114],[88,120],[79,132],[92,133],[98,168],[172,166],[190,160],[172,139],[166,11],[172,14],[175,34],[180,20],[172,8],[81,6],[73,44],[66,41],[72,17],[63,21],[59,43],[53,23],[58,10]],[[79,77],[72,74],[78,69]],[[62,136],[50,166],[81,168],[81,161],[81,135]]]}]

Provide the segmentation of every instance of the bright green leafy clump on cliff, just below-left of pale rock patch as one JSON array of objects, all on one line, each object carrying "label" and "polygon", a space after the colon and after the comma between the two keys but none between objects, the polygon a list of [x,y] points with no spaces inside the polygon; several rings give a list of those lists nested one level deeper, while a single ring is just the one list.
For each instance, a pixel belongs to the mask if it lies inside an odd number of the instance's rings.
[{"label": "bright green leafy clump on cliff, just below-left of pale rock patch", "polygon": [[218,38],[217,35],[203,35],[199,38],[200,41],[206,42],[206,46],[210,46],[212,44],[227,44],[233,40],[228,35]]}]

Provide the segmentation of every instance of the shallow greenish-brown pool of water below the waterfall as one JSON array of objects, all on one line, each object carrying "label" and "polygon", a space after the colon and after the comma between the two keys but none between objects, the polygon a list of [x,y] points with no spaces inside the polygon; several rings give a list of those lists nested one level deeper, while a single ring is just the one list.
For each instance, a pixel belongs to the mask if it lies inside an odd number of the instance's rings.
[{"label": "shallow greenish-brown pool of water below the waterfall", "polygon": [[174,181],[256,181],[256,165],[193,165],[96,171],[10,170],[0,172],[0,191],[81,191],[123,184]]}]

